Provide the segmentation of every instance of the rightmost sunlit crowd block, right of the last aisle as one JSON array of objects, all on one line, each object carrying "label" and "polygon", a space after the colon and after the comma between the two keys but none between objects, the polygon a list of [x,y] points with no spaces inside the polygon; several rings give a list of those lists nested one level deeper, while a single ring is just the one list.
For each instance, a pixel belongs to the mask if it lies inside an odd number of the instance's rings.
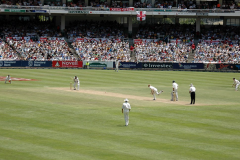
[{"label": "rightmost sunlit crowd block, right of the last aisle", "polygon": [[198,44],[194,57],[195,63],[240,63],[240,48],[235,44]]}]

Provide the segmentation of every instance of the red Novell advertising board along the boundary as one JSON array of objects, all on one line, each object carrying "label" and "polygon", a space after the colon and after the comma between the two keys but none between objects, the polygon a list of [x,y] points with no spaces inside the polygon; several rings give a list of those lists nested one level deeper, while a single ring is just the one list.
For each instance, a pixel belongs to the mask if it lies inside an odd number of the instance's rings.
[{"label": "red Novell advertising board along the boundary", "polygon": [[82,61],[52,61],[54,68],[81,68],[82,66]]}]

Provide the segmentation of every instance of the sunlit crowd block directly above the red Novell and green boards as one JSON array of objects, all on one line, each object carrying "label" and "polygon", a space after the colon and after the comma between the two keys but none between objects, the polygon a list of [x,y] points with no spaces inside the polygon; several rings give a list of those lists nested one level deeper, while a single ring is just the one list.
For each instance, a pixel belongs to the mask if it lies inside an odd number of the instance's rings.
[{"label": "sunlit crowd block directly above the red Novell and green boards", "polygon": [[72,43],[76,53],[82,60],[115,60],[129,61],[131,59],[128,42],[76,41]]}]

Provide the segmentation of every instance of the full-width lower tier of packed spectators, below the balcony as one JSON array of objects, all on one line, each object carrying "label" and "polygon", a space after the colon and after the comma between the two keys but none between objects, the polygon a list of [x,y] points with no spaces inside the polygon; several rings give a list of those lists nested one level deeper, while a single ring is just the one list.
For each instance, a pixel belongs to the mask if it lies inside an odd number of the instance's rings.
[{"label": "full-width lower tier of packed spectators, below the balcony", "polygon": [[[63,33],[54,24],[46,22],[2,22],[0,59],[239,62],[239,27],[202,29],[198,43],[193,47],[196,33],[192,25],[140,25],[133,35],[132,58],[131,45],[125,39],[127,34],[121,24],[104,21],[75,21],[72,24]],[[192,61],[188,59],[190,55],[194,57]]]}]

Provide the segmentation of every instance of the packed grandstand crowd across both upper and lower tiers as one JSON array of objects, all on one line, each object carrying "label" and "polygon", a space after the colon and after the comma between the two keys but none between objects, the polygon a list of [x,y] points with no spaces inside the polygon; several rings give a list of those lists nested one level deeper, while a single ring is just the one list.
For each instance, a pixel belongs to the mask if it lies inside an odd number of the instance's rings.
[{"label": "packed grandstand crowd across both upper and lower tiers", "polygon": [[[111,4],[108,1],[82,0],[1,1],[3,8],[44,5],[69,7],[68,9],[76,10],[84,10],[81,7],[92,7],[96,10],[129,7],[129,3],[122,1],[111,1]],[[180,11],[240,9],[240,3],[237,1],[223,1],[220,6],[219,1],[201,1],[200,3],[178,1],[176,3],[175,0],[156,0],[154,3],[147,3],[134,0],[132,5],[134,8],[175,8]],[[124,23],[120,23],[121,20],[80,18],[70,21],[66,27],[64,24],[64,29],[61,30],[59,24],[53,22],[51,18],[43,20],[36,17],[28,20],[21,19],[21,16],[17,16],[14,20],[1,18],[0,60],[114,61],[118,59],[124,62],[239,63],[240,59],[240,27],[238,25],[201,24],[201,31],[198,32],[196,31],[197,22],[138,23],[129,35],[128,28]]]}]

